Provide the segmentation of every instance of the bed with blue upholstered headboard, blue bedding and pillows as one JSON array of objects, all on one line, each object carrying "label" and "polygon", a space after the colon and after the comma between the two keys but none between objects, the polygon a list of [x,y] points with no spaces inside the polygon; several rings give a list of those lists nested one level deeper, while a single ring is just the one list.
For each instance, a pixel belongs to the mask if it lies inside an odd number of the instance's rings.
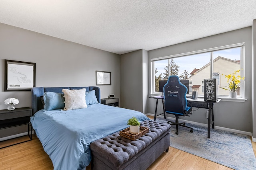
[{"label": "bed with blue upholstered headboard, blue bedding and pillows", "polygon": [[[35,87],[31,91],[33,116],[30,121],[54,170],[85,169],[91,161],[90,143],[125,129],[133,116],[139,121],[148,120],[141,112],[100,104],[100,88],[95,86]],[[86,106],[82,101],[83,108],[74,109],[80,106],[78,101],[68,107],[72,93],[80,100],[85,98]],[[61,108],[63,100],[64,109]]]}]

